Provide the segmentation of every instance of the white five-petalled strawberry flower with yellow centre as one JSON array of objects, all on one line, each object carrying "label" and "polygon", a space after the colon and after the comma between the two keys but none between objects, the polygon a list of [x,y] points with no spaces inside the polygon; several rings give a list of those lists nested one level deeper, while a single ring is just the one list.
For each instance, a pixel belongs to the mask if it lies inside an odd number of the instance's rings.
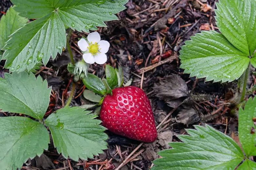
[{"label": "white five-petalled strawberry flower with yellow centre", "polygon": [[107,62],[106,53],[109,50],[110,44],[105,40],[100,40],[100,35],[98,32],[92,32],[88,35],[87,41],[81,39],[78,41],[77,45],[81,51],[85,52],[83,54],[83,59],[89,64],[97,63],[104,64]]}]

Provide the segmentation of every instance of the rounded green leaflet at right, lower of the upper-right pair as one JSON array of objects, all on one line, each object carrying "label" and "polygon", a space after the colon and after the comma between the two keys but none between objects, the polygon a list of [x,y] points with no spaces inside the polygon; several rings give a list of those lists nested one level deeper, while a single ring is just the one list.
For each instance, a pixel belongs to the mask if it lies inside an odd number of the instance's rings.
[{"label": "rounded green leaflet at right, lower of the upper-right pair", "polygon": [[203,31],[186,41],[180,51],[184,73],[206,81],[233,81],[248,67],[250,59],[216,31]]}]

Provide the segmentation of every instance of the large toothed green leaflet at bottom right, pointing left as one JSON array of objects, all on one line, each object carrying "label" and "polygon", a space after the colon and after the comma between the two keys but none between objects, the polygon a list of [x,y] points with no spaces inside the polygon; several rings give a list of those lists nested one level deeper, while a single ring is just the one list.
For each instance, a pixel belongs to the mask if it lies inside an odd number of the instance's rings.
[{"label": "large toothed green leaflet at bottom right, pointing left", "polygon": [[159,152],[162,159],[153,161],[152,170],[227,170],[235,169],[244,159],[238,144],[214,128],[195,126],[189,135],[179,135],[181,142],[172,142],[172,149]]}]

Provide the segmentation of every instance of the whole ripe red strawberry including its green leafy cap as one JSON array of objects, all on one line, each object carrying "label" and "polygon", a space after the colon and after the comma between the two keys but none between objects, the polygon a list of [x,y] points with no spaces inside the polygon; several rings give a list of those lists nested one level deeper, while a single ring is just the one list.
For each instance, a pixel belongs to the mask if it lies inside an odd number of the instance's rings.
[{"label": "whole ripe red strawberry including its green leafy cap", "polygon": [[102,104],[100,119],[109,131],[142,142],[156,140],[157,130],[150,101],[138,87],[121,87],[121,67],[117,70],[106,65],[106,79],[101,80],[89,73],[83,82],[89,90],[97,93],[97,97],[94,94],[88,97],[92,94],[85,91],[84,97]]}]

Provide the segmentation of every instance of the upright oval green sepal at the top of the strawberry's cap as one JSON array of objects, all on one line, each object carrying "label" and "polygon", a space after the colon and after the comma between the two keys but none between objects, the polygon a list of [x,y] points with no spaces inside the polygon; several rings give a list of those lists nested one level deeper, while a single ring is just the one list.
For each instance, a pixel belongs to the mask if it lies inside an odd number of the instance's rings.
[{"label": "upright oval green sepal at the top of the strawberry's cap", "polygon": [[117,73],[113,67],[106,65],[105,68],[106,79],[111,89],[114,89],[118,85]]}]

